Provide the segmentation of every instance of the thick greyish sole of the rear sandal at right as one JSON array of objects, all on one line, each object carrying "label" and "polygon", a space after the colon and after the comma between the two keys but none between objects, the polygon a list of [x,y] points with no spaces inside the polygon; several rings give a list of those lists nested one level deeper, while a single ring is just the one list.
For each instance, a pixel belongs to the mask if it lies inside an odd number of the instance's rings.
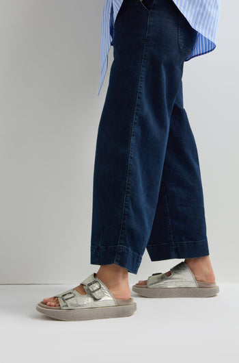
[{"label": "thick greyish sole of the rear sandal at right", "polygon": [[219,292],[219,286],[213,288],[141,288],[138,286],[132,286],[132,290],[143,297],[212,297]]}]

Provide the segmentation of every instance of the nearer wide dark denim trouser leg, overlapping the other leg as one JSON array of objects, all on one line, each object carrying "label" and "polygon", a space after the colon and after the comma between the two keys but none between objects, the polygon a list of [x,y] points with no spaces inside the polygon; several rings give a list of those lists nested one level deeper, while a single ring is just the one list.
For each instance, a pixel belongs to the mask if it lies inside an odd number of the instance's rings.
[{"label": "nearer wide dark denim trouser leg, overlapping the other leg", "polygon": [[94,168],[91,263],[118,264],[131,273],[150,238],[186,58],[178,47],[173,1],[147,6],[127,0],[115,21]]}]

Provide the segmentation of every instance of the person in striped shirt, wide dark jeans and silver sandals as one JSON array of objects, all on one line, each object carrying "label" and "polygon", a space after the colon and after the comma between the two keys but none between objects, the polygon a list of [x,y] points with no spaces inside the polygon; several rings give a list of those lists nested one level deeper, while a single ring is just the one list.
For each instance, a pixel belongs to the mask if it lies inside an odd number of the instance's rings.
[{"label": "person in striped shirt, wide dark jeans and silver sandals", "polygon": [[[136,303],[118,315],[107,315],[106,308],[113,311],[119,301],[132,305],[128,273],[137,274],[145,249],[152,261],[184,262],[139,281],[133,286],[139,294],[219,292],[182,74],[186,61],[215,49],[220,5],[217,0],[105,1],[98,92],[111,45],[113,63],[96,142],[90,261],[100,268],[79,286],[45,298],[38,311],[52,309],[61,320],[132,315]],[[64,308],[69,314],[57,316]],[[97,309],[105,314],[97,315]]]}]

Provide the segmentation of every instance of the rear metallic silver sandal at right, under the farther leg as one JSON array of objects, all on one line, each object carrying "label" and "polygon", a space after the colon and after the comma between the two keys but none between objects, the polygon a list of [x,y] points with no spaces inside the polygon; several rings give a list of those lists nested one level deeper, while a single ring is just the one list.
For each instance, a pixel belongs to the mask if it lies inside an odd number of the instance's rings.
[{"label": "rear metallic silver sandal at right, under the farther leg", "polygon": [[219,292],[216,282],[197,281],[185,262],[170,268],[171,275],[153,273],[146,285],[135,284],[132,290],[144,297],[212,297]]}]

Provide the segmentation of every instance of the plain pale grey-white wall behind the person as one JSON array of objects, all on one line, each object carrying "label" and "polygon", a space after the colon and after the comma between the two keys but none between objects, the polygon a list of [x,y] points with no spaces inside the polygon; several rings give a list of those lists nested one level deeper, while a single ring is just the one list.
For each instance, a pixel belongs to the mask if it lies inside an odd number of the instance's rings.
[{"label": "plain pale grey-white wall behind the person", "polygon": [[[104,0],[0,0],[0,283],[79,284],[89,264]],[[238,11],[221,5],[212,53],[184,65],[216,281],[238,274]],[[85,30],[87,29],[87,31]],[[196,86],[195,86],[196,84]],[[179,260],[150,262],[138,275]]]}]

